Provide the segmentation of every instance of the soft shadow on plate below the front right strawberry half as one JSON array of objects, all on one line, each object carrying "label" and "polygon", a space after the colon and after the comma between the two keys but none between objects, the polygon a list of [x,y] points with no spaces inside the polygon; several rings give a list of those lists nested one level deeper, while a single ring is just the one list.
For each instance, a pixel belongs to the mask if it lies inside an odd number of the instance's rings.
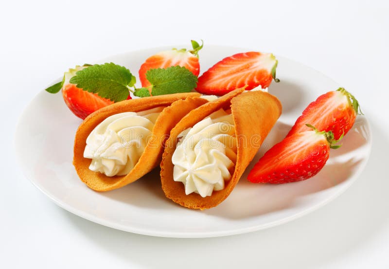
[{"label": "soft shadow on plate below the front right strawberry half", "polygon": [[256,184],[245,177],[223,203],[204,212],[224,218],[242,219],[284,210],[293,207],[304,197],[344,182],[354,173],[360,161],[350,159],[328,164],[311,179],[287,184]]}]

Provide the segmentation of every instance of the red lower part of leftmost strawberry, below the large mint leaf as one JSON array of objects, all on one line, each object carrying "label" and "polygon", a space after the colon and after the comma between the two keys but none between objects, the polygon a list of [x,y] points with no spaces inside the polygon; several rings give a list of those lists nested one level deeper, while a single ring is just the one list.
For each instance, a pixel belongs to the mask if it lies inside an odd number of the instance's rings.
[{"label": "red lower part of leftmost strawberry, below the large mint leaf", "polygon": [[100,108],[113,104],[113,101],[77,88],[74,84],[64,85],[62,96],[71,112],[81,119],[85,119],[90,113]]}]

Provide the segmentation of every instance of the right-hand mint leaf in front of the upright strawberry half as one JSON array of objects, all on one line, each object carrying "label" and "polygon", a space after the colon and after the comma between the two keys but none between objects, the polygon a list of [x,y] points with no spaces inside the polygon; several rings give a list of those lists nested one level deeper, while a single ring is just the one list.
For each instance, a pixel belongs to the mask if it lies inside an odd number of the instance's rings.
[{"label": "right-hand mint leaf in front of the upright strawberry half", "polygon": [[152,85],[152,95],[190,92],[196,88],[197,77],[185,67],[171,66],[166,69],[150,69],[146,78]]}]

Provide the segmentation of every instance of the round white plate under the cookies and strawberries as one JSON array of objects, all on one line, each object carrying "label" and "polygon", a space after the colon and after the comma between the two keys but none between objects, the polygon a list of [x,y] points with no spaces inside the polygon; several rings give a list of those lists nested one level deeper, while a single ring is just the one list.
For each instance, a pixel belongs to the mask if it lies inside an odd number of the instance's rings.
[{"label": "round white plate under the cookies and strawberries", "polygon": [[[155,48],[106,58],[137,75]],[[206,46],[200,52],[205,71],[225,56],[246,49]],[[283,114],[247,171],[266,149],[282,140],[302,110],[320,94],[336,90],[336,82],[300,63],[278,56],[277,77],[269,92],[283,104]],[[78,63],[82,64],[82,63]],[[353,89],[347,89],[353,92]],[[363,104],[363,102],[362,102]],[[20,117],[16,150],[26,177],[64,209],[91,221],[132,233],[168,237],[212,237],[269,228],[305,215],[334,199],[357,178],[371,149],[371,130],[364,116],[331,150],[326,166],[312,179],[296,183],[253,184],[240,179],[231,195],[215,208],[197,211],[164,197],[155,170],[124,188],[94,192],[78,179],[72,166],[74,134],[81,120],[66,107],[62,95],[42,90]],[[246,172],[247,172],[246,171]]]}]

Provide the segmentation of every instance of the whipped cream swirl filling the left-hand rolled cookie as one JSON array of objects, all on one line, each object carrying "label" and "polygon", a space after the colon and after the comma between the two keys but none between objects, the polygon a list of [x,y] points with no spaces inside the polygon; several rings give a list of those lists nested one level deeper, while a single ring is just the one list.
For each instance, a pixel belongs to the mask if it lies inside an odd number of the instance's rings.
[{"label": "whipped cream swirl filling the left-hand rolled cookie", "polygon": [[89,169],[108,177],[127,175],[141,158],[164,107],[109,116],[87,138],[84,158]]}]

